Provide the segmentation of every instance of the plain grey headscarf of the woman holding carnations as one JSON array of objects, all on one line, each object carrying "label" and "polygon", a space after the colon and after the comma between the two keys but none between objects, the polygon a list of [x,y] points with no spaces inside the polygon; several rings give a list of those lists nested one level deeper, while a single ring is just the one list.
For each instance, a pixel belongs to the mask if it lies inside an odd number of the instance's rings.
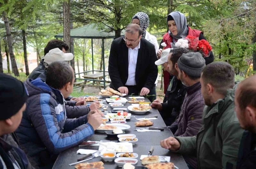
[{"label": "plain grey headscarf of the woman holding carnations", "polygon": [[[173,35],[169,30],[168,33],[174,39],[179,40],[185,38],[188,35],[188,26],[187,26],[187,19],[185,15],[179,11],[173,11],[168,16],[171,16],[177,26],[177,35]],[[168,26],[168,16],[167,16],[167,26]]]}]

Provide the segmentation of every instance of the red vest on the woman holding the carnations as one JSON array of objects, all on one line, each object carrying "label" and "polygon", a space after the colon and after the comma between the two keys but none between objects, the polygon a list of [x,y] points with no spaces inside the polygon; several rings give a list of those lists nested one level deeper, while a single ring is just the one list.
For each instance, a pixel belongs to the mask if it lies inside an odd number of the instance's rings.
[{"label": "red vest on the woman holding the carnations", "polygon": [[[191,29],[188,26],[188,35],[199,37],[200,33],[202,33],[202,31]],[[172,36],[170,36],[168,32],[164,34],[163,41],[166,44],[166,47],[164,47],[164,49],[172,48],[171,46]],[[168,71],[164,71],[164,94],[168,88],[169,81],[170,81],[170,73]]]}]

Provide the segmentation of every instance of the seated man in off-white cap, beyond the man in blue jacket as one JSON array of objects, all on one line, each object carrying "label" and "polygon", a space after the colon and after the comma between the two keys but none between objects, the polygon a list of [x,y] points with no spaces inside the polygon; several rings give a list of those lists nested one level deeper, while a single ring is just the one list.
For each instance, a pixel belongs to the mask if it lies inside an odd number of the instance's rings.
[{"label": "seated man in off-white cap, beyond the man in blue jacket", "polygon": [[[54,61],[69,61],[74,58],[74,55],[72,53],[64,53],[59,48],[54,48],[50,50],[44,57],[44,66],[45,70],[43,73],[41,73],[38,78],[41,78],[42,80],[46,80],[46,74],[47,74],[47,68],[49,64],[51,64]],[[51,73],[51,72],[50,72]],[[52,79],[53,82],[51,83],[58,83],[54,78]],[[66,98],[65,98],[66,99]],[[73,98],[72,98],[73,99]],[[71,100],[72,100],[71,99]],[[66,111],[67,111],[67,117],[72,118],[78,118],[80,116],[86,115],[89,113],[90,110],[98,110],[100,107],[100,102],[96,101],[90,104],[90,106],[85,106],[85,100],[84,98],[78,99],[76,98],[74,101],[67,101],[66,102]]]}]

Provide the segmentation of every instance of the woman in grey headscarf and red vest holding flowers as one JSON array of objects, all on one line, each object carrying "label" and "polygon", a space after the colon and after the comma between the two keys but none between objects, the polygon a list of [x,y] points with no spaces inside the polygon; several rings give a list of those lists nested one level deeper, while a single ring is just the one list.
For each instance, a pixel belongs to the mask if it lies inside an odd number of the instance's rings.
[{"label": "woman in grey headscarf and red vest holding flowers", "polygon": [[[160,49],[157,51],[157,58],[160,59],[163,49],[172,48],[171,43],[175,44],[179,39],[185,38],[188,35],[198,37],[199,40],[206,40],[204,37],[204,33],[202,31],[191,29],[187,25],[187,19],[185,15],[179,11],[173,11],[169,15],[167,15],[167,26],[169,31],[164,34],[162,42],[166,44],[163,46],[160,44]],[[162,43],[161,42],[161,43]],[[213,62],[214,55],[212,51],[208,57],[204,57],[205,64],[209,64]],[[170,81],[170,74],[168,71],[164,71],[164,93],[167,90],[169,81]]]}]

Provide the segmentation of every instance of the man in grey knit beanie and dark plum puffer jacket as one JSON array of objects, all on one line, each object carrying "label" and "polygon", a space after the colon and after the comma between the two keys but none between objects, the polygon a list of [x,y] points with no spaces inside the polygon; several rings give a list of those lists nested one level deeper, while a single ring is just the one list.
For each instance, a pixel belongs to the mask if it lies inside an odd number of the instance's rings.
[{"label": "man in grey knit beanie and dark plum puffer jacket", "polygon": [[[205,67],[205,60],[199,52],[182,54],[178,60],[179,79],[187,92],[180,110],[178,120],[170,129],[174,136],[196,136],[202,127],[204,98],[201,92],[200,77]],[[161,141],[161,146],[166,148],[168,138]],[[189,168],[197,168],[195,156],[183,156]]]}]

